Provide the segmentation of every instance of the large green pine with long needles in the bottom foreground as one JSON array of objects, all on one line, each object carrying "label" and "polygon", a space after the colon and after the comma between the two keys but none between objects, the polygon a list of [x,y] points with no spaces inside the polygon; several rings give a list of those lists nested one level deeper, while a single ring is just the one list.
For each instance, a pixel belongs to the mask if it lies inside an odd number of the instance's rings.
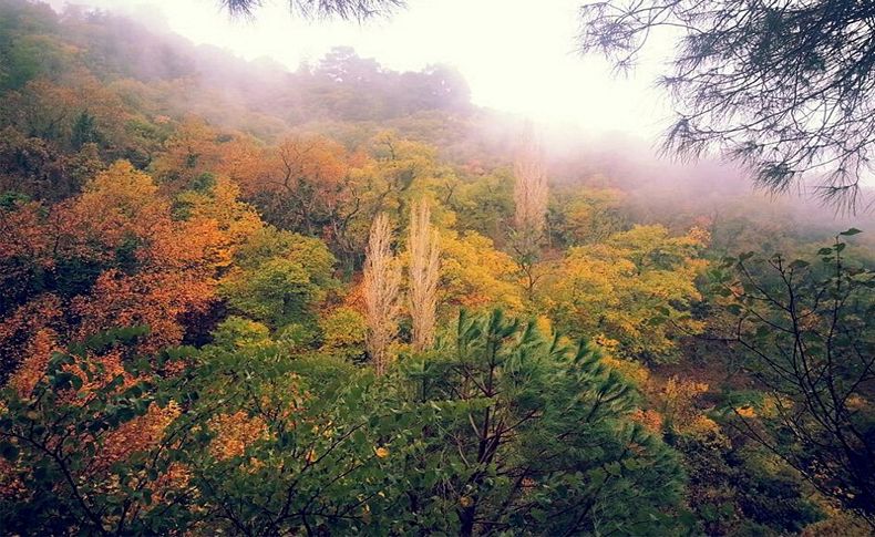
[{"label": "large green pine with long needles in the bottom foreground", "polygon": [[[544,338],[496,310],[459,316],[435,351],[400,365],[411,424],[411,533],[666,535],[683,473],[629,420],[636,395],[585,343]],[[402,531],[404,533],[404,531]]]}]

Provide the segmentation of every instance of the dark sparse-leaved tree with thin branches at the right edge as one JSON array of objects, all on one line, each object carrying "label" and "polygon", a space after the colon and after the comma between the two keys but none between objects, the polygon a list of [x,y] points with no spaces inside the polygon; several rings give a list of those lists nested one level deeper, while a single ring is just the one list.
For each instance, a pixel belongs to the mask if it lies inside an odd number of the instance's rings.
[{"label": "dark sparse-leaved tree with thin branches at the right edge", "polygon": [[[850,229],[842,236],[859,233]],[[764,393],[737,426],[875,528],[875,272],[836,237],[820,260],[727,258],[727,342]]]}]

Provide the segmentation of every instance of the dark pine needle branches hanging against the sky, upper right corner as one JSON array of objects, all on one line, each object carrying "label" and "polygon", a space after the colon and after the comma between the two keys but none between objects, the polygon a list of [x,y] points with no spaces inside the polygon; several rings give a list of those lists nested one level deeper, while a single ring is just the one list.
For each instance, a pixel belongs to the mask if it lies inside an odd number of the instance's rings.
[{"label": "dark pine needle branches hanging against the sky, upper right corner", "polygon": [[666,149],[719,148],[772,192],[816,173],[820,195],[854,207],[875,143],[871,2],[608,0],[581,21],[580,50],[619,69],[656,30],[673,31],[673,72],[660,82],[679,112]]}]

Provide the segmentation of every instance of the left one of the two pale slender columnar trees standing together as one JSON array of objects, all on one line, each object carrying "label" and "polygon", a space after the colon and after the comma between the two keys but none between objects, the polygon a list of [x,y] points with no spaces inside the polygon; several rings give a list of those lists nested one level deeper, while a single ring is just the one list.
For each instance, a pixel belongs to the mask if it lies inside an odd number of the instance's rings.
[{"label": "left one of the two pale slender columnar trees standing together", "polygon": [[389,217],[380,214],[371,227],[364,258],[368,352],[378,375],[385,372],[389,345],[398,334],[400,288],[401,267],[392,254],[392,227]]}]

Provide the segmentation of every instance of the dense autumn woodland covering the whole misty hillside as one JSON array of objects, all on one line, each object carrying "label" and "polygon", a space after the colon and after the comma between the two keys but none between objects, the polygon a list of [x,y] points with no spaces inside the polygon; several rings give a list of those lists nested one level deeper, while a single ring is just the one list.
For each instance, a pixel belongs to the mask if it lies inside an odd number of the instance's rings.
[{"label": "dense autumn woodland covering the whole misty hillside", "polygon": [[640,149],[0,0],[0,534],[873,535],[872,216]]}]

